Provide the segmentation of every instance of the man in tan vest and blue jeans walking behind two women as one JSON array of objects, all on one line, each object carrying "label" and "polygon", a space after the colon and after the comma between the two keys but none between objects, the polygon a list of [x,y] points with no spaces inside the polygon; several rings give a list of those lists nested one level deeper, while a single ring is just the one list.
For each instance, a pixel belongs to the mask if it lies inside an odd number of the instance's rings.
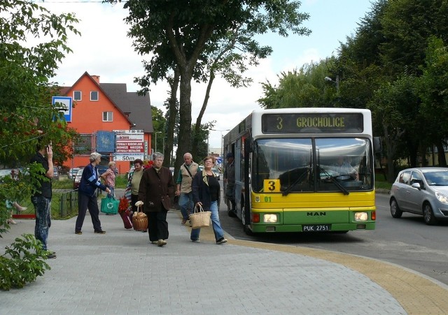
[{"label": "man in tan vest and blue jeans walking behind two women", "polygon": [[190,212],[193,211],[193,192],[191,191],[191,182],[199,167],[197,163],[193,162],[193,156],[188,152],[183,154],[183,161],[185,161],[185,163],[181,165],[179,175],[176,180],[176,196],[179,196],[182,225],[186,224]]}]

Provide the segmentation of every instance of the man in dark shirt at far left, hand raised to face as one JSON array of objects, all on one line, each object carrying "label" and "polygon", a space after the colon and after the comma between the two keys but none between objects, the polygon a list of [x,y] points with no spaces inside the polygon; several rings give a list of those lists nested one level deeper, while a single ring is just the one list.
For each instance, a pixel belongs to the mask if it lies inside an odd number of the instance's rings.
[{"label": "man in dark shirt at far left, hand raised to face", "polygon": [[[44,155],[46,154],[46,158]],[[53,177],[53,152],[51,145],[37,145],[36,154],[31,158],[30,163],[40,164],[43,168],[41,175],[47,179],[37,178],[40,184],[36,185],[36,192],[31,196],[31,203],[34,205],[36,213],[36,226],[34,236],[36,240],[42,242],[42,249],[46,251],[47,258],[56,258],[54,251],[48,251],[47,240],[48,230],[51,226],[51,179]]]}]

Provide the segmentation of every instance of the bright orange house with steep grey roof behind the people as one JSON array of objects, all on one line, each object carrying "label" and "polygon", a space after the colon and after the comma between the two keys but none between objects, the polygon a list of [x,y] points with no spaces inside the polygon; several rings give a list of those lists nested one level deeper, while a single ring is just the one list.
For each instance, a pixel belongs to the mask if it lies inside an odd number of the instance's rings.
[{"label": "bright orange house with steep grey roof behind the people", "polygon": [[[137,92],[127,92],[125,83],[100,83],[98,75],[85,72],[71,87],[62,87],[62,96],[73,99],[69,126],[81,135],[74,144],[73,158],[64,166],[68,168],[86,166],[92,152],[102,154],[102,165],[113,161],[113,152],[101,151],[99,137],[111,135],[113,130],[143,130],[145,156],[151,148],[153,119],[149,95],[139,96]],[[113,135],[113,134],[112,134]],[[130,169],[129,161],[117,161],[119,173]]]}]

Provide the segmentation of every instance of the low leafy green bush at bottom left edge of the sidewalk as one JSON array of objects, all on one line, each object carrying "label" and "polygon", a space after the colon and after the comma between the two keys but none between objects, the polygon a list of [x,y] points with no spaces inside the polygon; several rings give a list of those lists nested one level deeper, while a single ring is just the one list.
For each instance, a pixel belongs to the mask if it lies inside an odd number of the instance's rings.
[{"label": "low leafy green bush at bottom left edge of the sidewalk", "polygon": [[28,282],[42,276],[50,266],[45,263],[48,251],[42,249],[42,243],[34,235],[24,234],[16,237],[15,242],[5,247],[0,256],[0,289],[23,288]]}]

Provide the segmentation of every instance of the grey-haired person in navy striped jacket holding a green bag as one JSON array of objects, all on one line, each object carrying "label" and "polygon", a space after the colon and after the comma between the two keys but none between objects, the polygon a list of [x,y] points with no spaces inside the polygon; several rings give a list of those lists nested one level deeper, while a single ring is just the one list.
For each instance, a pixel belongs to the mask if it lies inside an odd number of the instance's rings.
[{"label": "grey-haired person in navy striped jacket holding a green bag", "polygon": [[97,189],[111,193],[111,189],[101,183],[98,174],[98,165],[101,161],[101,154],[93,152],[90,154],[90,163],[85,166],[83,175],[78,189],[78,218],[76,219],[75,234],[83,234],[81,228],[83,228],[85,212],[87,208],[92,218],[93,230],[97,234],[105,234],[106,232],[101,227],[99,221],[99,209],[97,202]]}]

